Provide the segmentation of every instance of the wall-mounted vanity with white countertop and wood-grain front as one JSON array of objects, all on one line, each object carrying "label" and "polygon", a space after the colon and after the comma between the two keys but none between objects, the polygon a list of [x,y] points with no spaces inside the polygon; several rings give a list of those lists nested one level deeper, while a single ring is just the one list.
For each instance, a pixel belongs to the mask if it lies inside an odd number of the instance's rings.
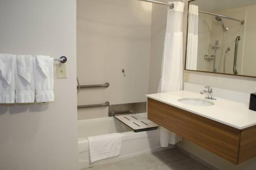
[{"label": "wall-mounted vanity with white countertop and wood-grain front", "polygon": [[222,158],[239,164],[256,155],[256,112],[248,104],[221,98],[212,106],[191,106],[182,98],[204,96],[189,91],[150,94],[148,119]]}]

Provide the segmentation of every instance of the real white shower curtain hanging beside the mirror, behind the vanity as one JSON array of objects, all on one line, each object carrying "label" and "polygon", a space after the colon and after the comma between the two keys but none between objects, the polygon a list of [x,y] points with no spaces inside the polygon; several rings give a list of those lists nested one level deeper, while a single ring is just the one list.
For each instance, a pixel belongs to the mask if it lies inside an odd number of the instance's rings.
[{"label": "real white shower curtain hanging beside the mirror, behind the vanity", "polygon": [[[158,92],[178,91],[183,86],[183,11],[184,3],[174,4],[173,9],[168,8],[167,26],[164,41],[161,79]],[[161,147],[175,144],[181,137],[167,129],[160,128]]]}]

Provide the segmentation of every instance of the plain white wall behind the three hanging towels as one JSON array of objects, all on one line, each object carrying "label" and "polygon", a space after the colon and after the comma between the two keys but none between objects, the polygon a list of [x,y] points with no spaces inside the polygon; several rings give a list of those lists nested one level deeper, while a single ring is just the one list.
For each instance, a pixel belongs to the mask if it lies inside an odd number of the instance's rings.
[{"label": "plain white wall behind the three hanging towels", "polygon": [[76,1],[1,0],[0,53],[68,57],[55,102],[0,105],[0,169],[77,169]]}]

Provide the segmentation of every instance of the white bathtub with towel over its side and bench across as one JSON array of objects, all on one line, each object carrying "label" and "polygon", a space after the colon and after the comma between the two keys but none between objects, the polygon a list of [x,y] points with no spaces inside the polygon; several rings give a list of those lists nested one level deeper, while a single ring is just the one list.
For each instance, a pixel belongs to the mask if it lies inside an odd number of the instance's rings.
[{"label": "white bathtub with towel over its side and bench across", "polygon": [[[140,113],[146,117],[146,113]],[[100,160],[94,163],[89,159],[88,136],[109,133],[122,134],[122,147],[120,155],[114,158]],[[78,164],[79,169],[99,164],[109,163],[129,157],[163,150],[160,147],[160,130],[133,132],[133,130],[113,117],[78,120]]]}]

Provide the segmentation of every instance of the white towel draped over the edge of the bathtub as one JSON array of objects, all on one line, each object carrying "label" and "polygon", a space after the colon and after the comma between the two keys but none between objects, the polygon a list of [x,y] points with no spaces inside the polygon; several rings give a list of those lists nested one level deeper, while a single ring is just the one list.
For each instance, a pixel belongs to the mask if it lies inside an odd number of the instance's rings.
[{"label": "white towel draped over the edge of the bathtub", "polygon": [[118,156],[121,150],[122,136],[120,133],[87,137],[91,162]]}]

